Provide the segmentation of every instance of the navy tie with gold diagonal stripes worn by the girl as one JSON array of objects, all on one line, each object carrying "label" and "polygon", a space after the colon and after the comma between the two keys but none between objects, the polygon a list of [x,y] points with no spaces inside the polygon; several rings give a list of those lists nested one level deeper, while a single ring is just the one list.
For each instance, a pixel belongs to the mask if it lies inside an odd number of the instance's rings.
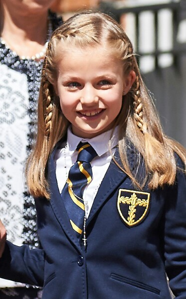
[{"label": "navy tie with gold diagonal stripes worn by the girl", "polygon": [[91,160],[97,155],[88,143],[80,143],[77,147],[78,156],[71,166],[67,182],[61,192],[70,223],[79,237],[83,231],[85,206],[83,188],[92,180]]}]

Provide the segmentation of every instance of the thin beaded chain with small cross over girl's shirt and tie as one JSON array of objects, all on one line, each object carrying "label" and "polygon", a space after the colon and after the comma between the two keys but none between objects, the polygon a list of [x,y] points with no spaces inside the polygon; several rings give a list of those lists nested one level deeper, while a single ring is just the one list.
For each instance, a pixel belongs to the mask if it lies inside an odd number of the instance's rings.
[{"label": "thin beaded chain with small cross over girl's shirt and tie", "polygon": [[[65,174],[66,174],[66,182],[67,182],[67,184],[68,184],[68,173],[67,173],[67,166],[66,166],[66,149],[67,149],[67,143],[66,143],[66,145],[65,145],[65,147],[64,147],[64,162],[65,162],[65,166],[64,166],[64,168],[65,168],[65,172],[66,172],[66,173],[65,173]],[[93,192],[92,197],[95,197],[95,194],[97,193],[100,184],[101,184],[101,183],[99,183],[99,184],[96,186],[96,188],[95,188],[95,190],[94,190],[94,192]],[[84,206],[85,206],[85,216],[84,216],[84,222],[83,222],[83,239],[82,239],[82,240],[83,240],[84,248],[85,248],[85,250],[86,250],[86,247],[87,247],[87,238],[86,238],[86,220],[87,220],[87,217],[88,217],[88,210],[89,210],[88,201],[87,201],[87,200],[84,200],[83,198],[81,198],[81,197],[79,197],[77,194],[75,194],[74,191],[72,190],[72,187],[71,187],[71,186],[70,186],[70,190],[71,190],[71,192],[73,193],[73,195],[74,195],[76,198],[78,198],[78,199],[80,199],[80,200],[82,200],[82,201],[84,202]]]}]

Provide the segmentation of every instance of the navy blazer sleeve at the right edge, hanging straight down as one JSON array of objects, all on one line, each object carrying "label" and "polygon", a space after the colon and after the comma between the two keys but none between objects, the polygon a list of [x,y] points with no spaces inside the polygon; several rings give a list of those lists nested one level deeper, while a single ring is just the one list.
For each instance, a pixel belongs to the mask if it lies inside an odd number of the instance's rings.
[{"label": "navy blazer sleeve at the right edge, hanging straight down", "polygon": [[[183,168],[181,162],[179,166]],[[166,197],[165,267],[174,295],[186,299],[186,175],[182,169]]]}]

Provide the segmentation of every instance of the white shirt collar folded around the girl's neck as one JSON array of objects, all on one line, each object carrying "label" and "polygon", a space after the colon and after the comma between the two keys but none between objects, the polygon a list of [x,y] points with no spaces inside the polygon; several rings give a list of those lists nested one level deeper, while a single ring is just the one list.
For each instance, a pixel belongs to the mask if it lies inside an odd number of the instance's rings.
[{"label": "white shirt collar folded around the girl's neck", "polygon": [[[71,126],[67,130],[67,147],[69,152],[74,152],[80,142],[88,142],[97,152],[98,156],[102,156],[104,153],[113,149],[118,144],[118,127],[113,130],[106,131],[93,138],[81,138],[72,133]],[[111,137],[112,136],[112,137]]]}]

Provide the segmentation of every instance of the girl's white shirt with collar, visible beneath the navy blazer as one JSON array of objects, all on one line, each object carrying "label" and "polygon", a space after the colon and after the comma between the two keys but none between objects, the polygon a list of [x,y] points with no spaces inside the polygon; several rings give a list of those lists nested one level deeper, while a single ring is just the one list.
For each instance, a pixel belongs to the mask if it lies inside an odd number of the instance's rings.
[{"label": "girl's white shirt with collar, visible beneath the navy blazer", "polygon": [[67,177],[70,167],[75,163],[78,152],[76,148],[80,142],[88,142],[97,152],[97,156],[91,161],[92,166],[92,181],[87,185],[83,191],[83,200],[85,204],[85,213],[88,217],[94,198],[97,194],[99,186],[105,176],[105,173],[112,160],[112,155],[115,152],[115,147],[118,144],[118,130],[114,131],[113,136],[112,130],[102,133],[91,139],[84,139],[73,135],[71,127],[67,131],[67,142],[63,143],[62,149],[56,151],[56,178],[61,193]]}]

